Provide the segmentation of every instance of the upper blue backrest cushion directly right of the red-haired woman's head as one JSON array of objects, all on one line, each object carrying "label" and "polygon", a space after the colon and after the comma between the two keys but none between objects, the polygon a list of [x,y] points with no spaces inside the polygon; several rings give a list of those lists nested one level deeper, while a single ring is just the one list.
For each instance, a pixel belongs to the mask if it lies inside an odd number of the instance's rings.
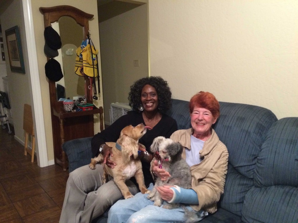
[{"label": "upper blue backrest cushion directly right of the red-haired woman's head", "polygon": [[268,109],[240,103],[220,102],[220,111],[214,130],[228,148],[229,163],[253,178],[261,145],[277,118]]}]

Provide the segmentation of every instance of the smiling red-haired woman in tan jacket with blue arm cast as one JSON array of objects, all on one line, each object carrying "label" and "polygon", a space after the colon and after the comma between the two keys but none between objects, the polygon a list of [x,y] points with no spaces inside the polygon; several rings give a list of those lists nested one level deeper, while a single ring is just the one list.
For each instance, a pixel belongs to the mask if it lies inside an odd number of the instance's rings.
[{"label": "smiling red-haired woman in tan jacket with blue arm cast", "polygon": [[[183,207],[157,207],[147,199],[147,194],[138,193],[117,201],[108,213],[108,222],[198,222],[217,211],[217,202],[224,193],[229,156],[212,129],[219,117],[219,103],[214,95],[201,91],[190,99],[189,111],[192,128],[175,131],[170,138],[184,147],[182,158],[190,166],[191,188],[169,185],[157,188],[163,204],[182,203]],[[169,172],[159,168],[157,160],[151,162],[151,169],[162,180],[170,177]],[[150,185],[148,189],[152,188]],[[196,218],[185,219],[185,212],[194,212]]]}]

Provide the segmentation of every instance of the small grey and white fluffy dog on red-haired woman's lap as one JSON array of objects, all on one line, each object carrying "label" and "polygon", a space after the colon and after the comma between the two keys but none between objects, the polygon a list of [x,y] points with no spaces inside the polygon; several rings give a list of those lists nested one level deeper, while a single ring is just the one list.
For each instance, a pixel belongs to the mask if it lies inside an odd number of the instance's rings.
[{"label": "small grey and white fluffy dog on red-haired woman's lap", "polygon": [[[181,158],[183,146],[172,139],[166,139],[163,136],[156,137],[150,147],[150,151],[159,154],[162,161],[162,168],[170,173],[168,180],[162,181],[157,178],[153,190],[149,193],[148,199],[154,201],[154,205],[160,207],[163,200],[161,199],[156,187],[163,185],[177,185],[188,189],[191,187],[190,167],[184,159]],[[167,161],[168,160],[168,161]],[[172,209],[179,207],[179,203],[168,203],[163,208]]]}]

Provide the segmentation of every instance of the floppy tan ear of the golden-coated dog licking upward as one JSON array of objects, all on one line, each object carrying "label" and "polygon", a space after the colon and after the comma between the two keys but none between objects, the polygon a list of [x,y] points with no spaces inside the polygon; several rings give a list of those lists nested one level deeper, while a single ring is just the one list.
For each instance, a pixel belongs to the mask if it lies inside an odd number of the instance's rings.
[{"label": "floppy tan ear of the golden-coated dog licking upward", "polygon": [[122,136],[121,153],[124,161],[129,161],[132,155],[136,159],[138,157],[138,150],[138,142],[127,135]]}]

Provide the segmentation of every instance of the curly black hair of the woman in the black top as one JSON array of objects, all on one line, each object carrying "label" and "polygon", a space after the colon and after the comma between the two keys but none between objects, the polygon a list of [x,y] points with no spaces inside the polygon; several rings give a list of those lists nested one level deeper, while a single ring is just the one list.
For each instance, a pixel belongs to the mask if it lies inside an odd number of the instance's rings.
[{"label": "curly black hair of the woman in the black top", "polygon": [[167,81],[158,76],[141,78],[131,85],[131,91],[128,96],[129,105],[134,111],[139,111],[139,106],[141,105],[141,92],[146,84],[150,84],[156,89],[159,111],[162,113],[167,112],[172,106],[172,92]]}]

